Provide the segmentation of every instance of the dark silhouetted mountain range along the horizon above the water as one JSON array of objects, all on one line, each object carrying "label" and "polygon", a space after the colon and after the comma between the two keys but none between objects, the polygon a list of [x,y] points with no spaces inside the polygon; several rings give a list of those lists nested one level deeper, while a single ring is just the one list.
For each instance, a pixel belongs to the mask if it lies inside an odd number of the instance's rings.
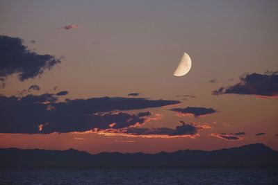
[{"label": "dark silhouetted mountain range along the horizon above the water", "polygon": [[0,168],[278,168],[278,152],[257,143],[156,154],[0,148]]}]

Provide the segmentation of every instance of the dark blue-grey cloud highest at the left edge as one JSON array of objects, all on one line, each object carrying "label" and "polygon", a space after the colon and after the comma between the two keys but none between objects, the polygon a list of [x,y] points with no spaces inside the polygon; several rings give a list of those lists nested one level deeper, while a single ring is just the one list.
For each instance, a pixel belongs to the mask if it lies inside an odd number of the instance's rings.
[{"label": "dark blue-grey cloud highest at the left edge", "polygon": [[0,36],[0,78],[17,74],[19,80],[36,78],[46,69],[50,70],[60,63],[53,55],[39,55],[30,51],[18,37]]}]

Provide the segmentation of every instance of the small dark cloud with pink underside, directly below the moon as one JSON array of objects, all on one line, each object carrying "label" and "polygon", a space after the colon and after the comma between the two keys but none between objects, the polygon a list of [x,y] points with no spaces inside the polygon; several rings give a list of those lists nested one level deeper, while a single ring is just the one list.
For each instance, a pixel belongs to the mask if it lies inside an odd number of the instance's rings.
[{"label": "small dark cloud with pink underside, directly below the moon", "polygon": [[213,114],[216,112],[215,109],[204,107],[174,108],[170,110],[178,112],[179,116],[195,116],[196,118],[199,116],[206,116],[208,114]]}]

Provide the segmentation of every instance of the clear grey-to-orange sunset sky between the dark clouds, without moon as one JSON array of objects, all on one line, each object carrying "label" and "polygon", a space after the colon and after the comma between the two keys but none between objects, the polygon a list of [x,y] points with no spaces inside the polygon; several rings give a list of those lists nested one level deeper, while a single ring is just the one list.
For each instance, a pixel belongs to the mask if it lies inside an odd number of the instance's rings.
[{"label": "clear grey-to-orange sunset sky between the dark clouds, without moon", "polygon": [[[140,98],[181,100],[173,107],[123,111],[161,115],[142,127],[174,128],[179,121],[211,126],[194,139],[1,133],[1,148],[153,153],[265,143],[278,150],[277,96],[212,94],[236,85],[245,73],[278,70],[277,1],[1,0],[0,17],[0,35],[19,37],[36,53],[64,57],[40,77],[21,82],[16,74],[9,76],[0,89],[3,96],[18,96],[31,85],[40,86],[34,95],[69,91],[60,101],[139,93]],[[70,24],[80,26],[61,28]],[[186,76],[175,77],[183,52],[193,66]],[[211,107],[217,113],[179,117],[169,110],[177,107]],[[223,132],[245,135],[236,141],[211,135]],[[265,134],[256,136],[261,132]]]}]

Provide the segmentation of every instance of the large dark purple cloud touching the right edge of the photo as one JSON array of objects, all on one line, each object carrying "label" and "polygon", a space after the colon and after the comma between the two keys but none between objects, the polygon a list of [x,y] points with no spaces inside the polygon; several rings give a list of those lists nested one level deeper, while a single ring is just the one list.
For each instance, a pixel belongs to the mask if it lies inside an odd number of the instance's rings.
[{"label": "large dark purple cloud touching the right edge of the photo", "polygon": [[263,97],[278,96],[278,72],[252,73],[240,77],[240,82],[230,87],[220,87],[212,92],[220,94],[244,94]]}]

